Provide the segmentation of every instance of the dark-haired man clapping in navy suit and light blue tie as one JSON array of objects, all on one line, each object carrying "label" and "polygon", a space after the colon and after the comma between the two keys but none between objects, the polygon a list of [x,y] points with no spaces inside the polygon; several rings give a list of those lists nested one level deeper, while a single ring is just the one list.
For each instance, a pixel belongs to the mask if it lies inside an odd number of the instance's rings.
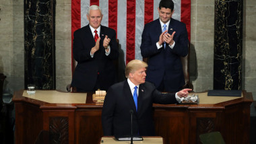
[{"label": "dark-haired man clapping in navy suit and light blue tie", "polygon": [[141,55],[148,58],[146,81],[161,92],[178,92],[185,84],[181,57],[188,54],[185,24],[172,19],[174,3],[159,3],[159,19],[145,25],[141,36]]}]

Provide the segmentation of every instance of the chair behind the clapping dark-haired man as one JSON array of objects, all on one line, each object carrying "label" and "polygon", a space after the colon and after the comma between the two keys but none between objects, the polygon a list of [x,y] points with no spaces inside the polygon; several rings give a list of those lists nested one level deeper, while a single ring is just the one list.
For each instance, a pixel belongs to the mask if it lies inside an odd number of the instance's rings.
[{"label": "chair behind the clapping dark-haired man", "polygon": [[[143,61],[148,63],[148,58],[143,58]],[[181,63],[183,65],[183,74],[185,79],[185,85],[183,85],[182,88],[193,89],[193,84],[189,81],[189,54],[186,57],[181,57]]]}]

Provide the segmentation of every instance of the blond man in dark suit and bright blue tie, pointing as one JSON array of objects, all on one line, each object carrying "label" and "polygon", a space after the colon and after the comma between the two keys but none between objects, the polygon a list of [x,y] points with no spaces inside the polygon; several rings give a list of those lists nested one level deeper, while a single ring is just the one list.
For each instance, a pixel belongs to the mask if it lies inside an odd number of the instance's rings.
[{"label": "blond man in dark suit and bright blue tie, pointing", "polygon": [[192,90],[183,89],[176,94],[162,94],[152,83],[145,81],[146,67],[148,65],[143,61],[130,61],[125,68],[127,79],[108,89],[102,108],[102,128],[105,136],[129,136],[131,110],[133,110],[133,134],[155,135],[153,103],[175,104],[181,101],[182,97],[187,97],[188,91]]}]

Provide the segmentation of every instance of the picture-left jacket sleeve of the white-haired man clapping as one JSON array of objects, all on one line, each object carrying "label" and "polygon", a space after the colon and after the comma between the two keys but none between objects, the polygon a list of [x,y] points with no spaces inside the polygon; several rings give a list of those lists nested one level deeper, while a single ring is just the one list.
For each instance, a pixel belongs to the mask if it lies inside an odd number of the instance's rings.
[{"label": "picture-left jacket sleeve of the white-haired man clapping", "polygon": [[73,34],[73,57],[78,63],[82,63],[84,61],[92,59],[90,55],[91,44],[89,44],[89,42],[86,42],[88,43],[88,46],[84,46],[83,41],[86,41],[86,38],[82,36],[81,33],[82,32],[74,32]]}]

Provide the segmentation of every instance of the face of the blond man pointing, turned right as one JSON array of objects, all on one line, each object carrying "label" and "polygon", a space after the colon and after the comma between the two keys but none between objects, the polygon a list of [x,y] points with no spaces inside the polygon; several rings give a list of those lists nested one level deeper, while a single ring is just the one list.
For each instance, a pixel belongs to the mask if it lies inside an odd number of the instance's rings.
[{"label": "face of the blond man pointing, turned right", "polygon": [[135,85],[139,85],[141,83],[145,83],[145,79],[146,79],[146,68],[141,68],[138,69],[137,71],[135,71],[134,73],[130,73],[130,77],[131,77],[131,81],[135,84]]}]

